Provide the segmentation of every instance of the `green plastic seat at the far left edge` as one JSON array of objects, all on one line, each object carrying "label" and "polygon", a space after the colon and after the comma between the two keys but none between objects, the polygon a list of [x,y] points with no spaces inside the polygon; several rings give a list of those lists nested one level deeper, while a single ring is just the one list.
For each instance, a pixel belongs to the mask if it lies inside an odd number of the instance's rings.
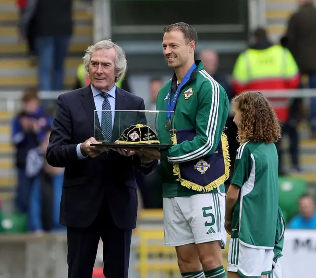
[{"label": "green plastic seat at the far left edge", "polygon": [[24,214],[3,214],[1,227],[4,234],[20,234],[26,232],[27,217]]}]

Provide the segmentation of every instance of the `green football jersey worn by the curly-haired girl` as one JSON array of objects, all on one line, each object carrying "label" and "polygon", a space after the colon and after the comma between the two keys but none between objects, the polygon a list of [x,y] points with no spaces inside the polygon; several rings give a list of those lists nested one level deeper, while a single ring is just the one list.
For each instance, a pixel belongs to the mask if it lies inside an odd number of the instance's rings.
[{"label": "green football jersey worn by the curly-haired girl", "polygon": [[231,184],[240,187],[233,212],[232,238],[257,249],[273,249],[278,209],[275,144],[248,141],[237,150]]}]

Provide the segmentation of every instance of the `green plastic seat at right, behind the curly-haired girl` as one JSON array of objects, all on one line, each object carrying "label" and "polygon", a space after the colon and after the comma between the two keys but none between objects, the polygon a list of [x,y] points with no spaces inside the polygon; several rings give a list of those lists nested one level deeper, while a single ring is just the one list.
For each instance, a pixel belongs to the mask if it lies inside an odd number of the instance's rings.
[{"label": "green plastic seat at right, behind the curly-haired girl", "polygon": [[299,178],[279,177],[278,188],[279,206],[288,223],[298,213],[298,199],[307,192],[307,182]]}]

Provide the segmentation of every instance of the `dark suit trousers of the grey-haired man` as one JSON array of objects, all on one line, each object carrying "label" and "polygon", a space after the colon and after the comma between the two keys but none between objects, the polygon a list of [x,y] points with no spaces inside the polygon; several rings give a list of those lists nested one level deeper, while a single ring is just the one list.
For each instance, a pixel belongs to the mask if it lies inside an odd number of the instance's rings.
[{"label": "dark suit trousers of the grey-haired man", "polygon": [[92,278],[100,238],[106,278],[127,278],[132,230],[121,230],[103,204],[95,221],[86,228],[67,227],[68,278]]}]

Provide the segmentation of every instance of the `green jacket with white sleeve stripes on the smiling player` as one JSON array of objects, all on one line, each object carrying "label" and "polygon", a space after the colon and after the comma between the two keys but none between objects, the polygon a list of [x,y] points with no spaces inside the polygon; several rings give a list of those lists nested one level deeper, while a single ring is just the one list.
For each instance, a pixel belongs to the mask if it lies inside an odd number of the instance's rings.
[{"label": "green jacket with white sleeve stripes on the smiling player", "polygon": [[[185,163],[213,154],[220,142],[228,117],[229,100],[225,89],[204,70],[203,63],[196,61],[197,68],[188,82],[181,88],[174,110],[175,129],[195,129],[196,137],[161,151],[161,177],[163,197],[183,197],[205,194],[180,185],[173,174],[173,163]],[[169,91],[171,99],[177,89],[174,74],[159,91],[157,110],[166,110]],[[159,140],[171,143],[171,136],[165,128],[165,115],[157,120]],[[164,117],[163,117],[164,116]],[[224,185],[208,193],[224,191]]]}]

